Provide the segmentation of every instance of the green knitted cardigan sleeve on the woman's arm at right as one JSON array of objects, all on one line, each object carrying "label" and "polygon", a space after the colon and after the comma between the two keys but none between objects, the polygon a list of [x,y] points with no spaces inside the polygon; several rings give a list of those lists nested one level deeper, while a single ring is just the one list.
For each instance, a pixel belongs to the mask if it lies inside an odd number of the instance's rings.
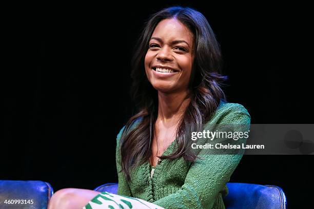
[{"label": "green knitted cardigan sleeve on the woman's arm at right", "polygon": [[[248,124],[247,130],[243,130],[244,126],[232,126],[234,127],[233,131],[249,130],[250,116],[246,110],[228,111],[221,115],[220,119],[217,121],[218,123]],[[154,204],[167,209],[212,208],[217,206],[214,203],[223,205],[221,192],[230,180],[230,176],[239,164],[242,155],[209,155],[201,151],[198,156],[202,159],[197,159],[192,163],[181,189],[174,194],[154,201]]]}]

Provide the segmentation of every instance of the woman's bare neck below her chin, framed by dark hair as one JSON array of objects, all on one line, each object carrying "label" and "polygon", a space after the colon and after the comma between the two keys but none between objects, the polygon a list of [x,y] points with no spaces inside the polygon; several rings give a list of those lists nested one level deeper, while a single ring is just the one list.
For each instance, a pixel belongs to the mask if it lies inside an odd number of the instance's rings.
[{"label": "woman's bare neck below her chin, framed by dark hair", "polygon": [[190,103],[189,92],[158,92],[158,119],[163,122],[179,120]]}]

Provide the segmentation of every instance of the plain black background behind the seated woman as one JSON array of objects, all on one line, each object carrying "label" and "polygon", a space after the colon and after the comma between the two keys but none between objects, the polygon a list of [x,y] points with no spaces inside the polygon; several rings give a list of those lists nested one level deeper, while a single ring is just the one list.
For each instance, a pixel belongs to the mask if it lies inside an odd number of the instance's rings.
[{"label": "plain black background behind the seated woman", "polygon": [[[0,179],[55,191],[117,182],[115,138],[132,115],[130,59],[144,21],[173,3],[10,7],[3,34]],[[229,102],[251,123],[313,123],[307,5],[184,3],[221,44]],[[289,208],[313,205],[312,155],[243,156],[231,182],[273,184]]]}]

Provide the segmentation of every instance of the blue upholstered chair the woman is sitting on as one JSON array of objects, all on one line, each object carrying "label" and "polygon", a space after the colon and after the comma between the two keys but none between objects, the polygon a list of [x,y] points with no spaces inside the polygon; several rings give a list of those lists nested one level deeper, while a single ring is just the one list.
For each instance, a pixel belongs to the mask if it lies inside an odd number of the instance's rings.
[{"label": "blue upholstered chair the woman is sitting on", "polygon": [[[116,194],[117,183],[106,183],[95,189]],[[279,186],[250,183],[227,183],[229,193],[224,198],[226,208],[285,209],[286,196]]]}]

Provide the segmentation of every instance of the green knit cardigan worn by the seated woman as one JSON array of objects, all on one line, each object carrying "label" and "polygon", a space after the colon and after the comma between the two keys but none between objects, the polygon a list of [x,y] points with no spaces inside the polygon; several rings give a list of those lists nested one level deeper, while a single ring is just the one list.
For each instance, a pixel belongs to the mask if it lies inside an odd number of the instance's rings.
[{"label": "green knit cardigan worn by the seated woman", "polygon": [[[204,130],[212,127],[212,124],[247,124],[247,130],[241,128],[242,130],[234,131],[248,131],[250,115],[242,105],[221,102],[211,119],[204,125]],[[223,197],[228,193],[226,183],[238,166],[241,154],[202,155],[201,151],[198,155],[202,156],[201,159],[197,158],[194,163],[187,162],[182,157],[172,161],[164,159],[156,165],[152,178],[150,164],[146,162],[131,170],[131,181],[128,182],[123,172],[120,172],[119,141],[123,129],[116,139],[118,195],[140,198],[167,209],[225,208]],[[163,155],[171,154],[177,148],[176,145],[174,140]]]}]

